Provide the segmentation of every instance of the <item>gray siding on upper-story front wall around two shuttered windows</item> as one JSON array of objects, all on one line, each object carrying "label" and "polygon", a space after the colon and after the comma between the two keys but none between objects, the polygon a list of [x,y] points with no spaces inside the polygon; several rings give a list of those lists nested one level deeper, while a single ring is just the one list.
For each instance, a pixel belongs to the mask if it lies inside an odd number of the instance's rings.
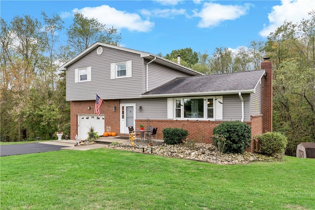
[{"label": "gray siding on upper-story front wall around two shuttered windows", "polygon": [[[145,68],[140,55],[103,47],[101,55],[96,50],[67,67],[66,100],[95,100],[95,94],[102,99],[139,98],[145,91]],[[110,64],[132,60],[132,77],[110,79]],[[92,67],[91,82],[74,82],[74,69]]]}]

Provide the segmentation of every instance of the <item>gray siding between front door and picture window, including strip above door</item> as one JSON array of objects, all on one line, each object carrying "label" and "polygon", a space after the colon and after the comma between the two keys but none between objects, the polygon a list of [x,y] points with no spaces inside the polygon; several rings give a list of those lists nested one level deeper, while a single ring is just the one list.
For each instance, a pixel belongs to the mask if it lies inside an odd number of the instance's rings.
[{"label": "gray siding between front door and picture window, including strip above door", "polygon": [[[136,103],[136,118],[139,120],[167,119],[167,98],[122,99],[120,103]],[[142,106],[141,112],[139,106]]]}]

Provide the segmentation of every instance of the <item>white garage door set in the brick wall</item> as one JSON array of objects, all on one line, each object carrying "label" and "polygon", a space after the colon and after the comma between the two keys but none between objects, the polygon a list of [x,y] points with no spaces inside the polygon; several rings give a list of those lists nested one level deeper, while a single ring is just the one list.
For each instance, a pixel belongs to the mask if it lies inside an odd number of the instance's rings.
[{"label": "white garage door set in the brick wall", "polygon": [[103,135],[105,119],[104,115],[78,115],[78,138],[87,139],[90,127],[93,126],[98,135]]}]

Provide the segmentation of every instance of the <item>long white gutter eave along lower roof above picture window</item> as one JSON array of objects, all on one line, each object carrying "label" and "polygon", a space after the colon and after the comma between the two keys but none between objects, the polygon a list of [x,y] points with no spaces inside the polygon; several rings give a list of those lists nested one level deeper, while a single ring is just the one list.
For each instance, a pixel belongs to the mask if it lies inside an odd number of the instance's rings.
[{"label": "long white gutter eave along lower roof above picture window", "polygon": [[142,98],[166,98],[166,97],[181,97],[181,96],[201,96],[201,95],[227,95],[227,94],[242,94],[254,93],[254,89],[250,90],[221,90],[221,91],[208,91],[208,92],[183,92],[183,93],[165,93],[165,94],[141,94]]}]

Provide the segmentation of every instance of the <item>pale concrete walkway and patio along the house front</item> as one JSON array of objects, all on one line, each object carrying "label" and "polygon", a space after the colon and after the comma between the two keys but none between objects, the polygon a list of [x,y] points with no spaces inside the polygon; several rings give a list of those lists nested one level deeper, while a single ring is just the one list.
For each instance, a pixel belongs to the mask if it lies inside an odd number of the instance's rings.
[{"label": "pale concrete walkway and patio along the house front", "polygon": [[[61,150],[92,150],[97,148],[106,148],[108,145],[112,142],[118,142],[121,144],[130,145],[130,141],[127,138],[120,137],[120,136],[108,136],[108,137],[100,137],[95,140],[96,144],[92,145],[82,145],[82,146],[74,146],[76,144],[75,140],[54,140],[54,141],[48,141],[48,142],[40,142],[40,144],[49,144],[49,145],[58,145],[58,146],[64,146],[64,148],[61,148]],[[153,145],[162,144],[164,140],[153,140]],[[137,146],[148,146],[149,141],[135,141],[134,143]]]}]

